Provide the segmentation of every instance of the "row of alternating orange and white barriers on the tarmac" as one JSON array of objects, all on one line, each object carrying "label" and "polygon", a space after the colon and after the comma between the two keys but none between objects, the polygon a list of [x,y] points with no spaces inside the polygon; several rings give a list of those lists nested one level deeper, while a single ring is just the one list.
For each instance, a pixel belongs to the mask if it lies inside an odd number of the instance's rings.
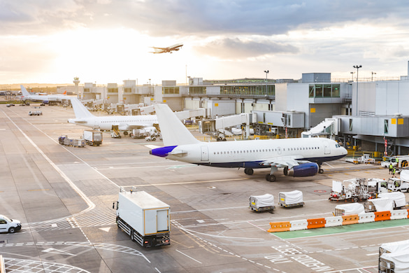
[{"label": "row of alternating orange and white barriers on the tarmac", "polygon": [[357,223],[371,223],[375,221],[396,220],[409,218],[409,209],[396,209],[394,211],[375,211],[364,214],[346,216],[331,216],[325,218],[302,219],[288,222],[272,222],[268,232],[282,232],[294,230],[310,230],[313,228],[328,228],[340,225]]}]

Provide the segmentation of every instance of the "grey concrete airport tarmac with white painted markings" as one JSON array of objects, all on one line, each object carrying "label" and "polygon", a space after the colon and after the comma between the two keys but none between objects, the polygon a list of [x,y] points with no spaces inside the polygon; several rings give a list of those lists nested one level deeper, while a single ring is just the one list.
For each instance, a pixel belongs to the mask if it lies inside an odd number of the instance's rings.
[{"label": "grey concrete airport tarmac with white painted markings", "polygon": [[[324,174],[267,182],[268,169],[218,169],[149,155],[160,141],[112,139],[61,146],[86,127],[71,108],[0,105],[0,214],[22,230],[0,234],[6,272],[377,272],[378,248],[409,239],[409,220],[269,233],[268,223],[332,216],[332,180],[389,178],[378,165],[338,160]],[[195,134],[198,134],[195,132]],[[171,205],[171,245],[143,248],[117,228],[112,204],[136,186]],[[304,207],[248,208],[250,195],[301,190]],[[408,193],[406,193],[408,197]],[[321,230],[321,231],[318,231]],[[325,232],[322,230],[326,230]]]}]

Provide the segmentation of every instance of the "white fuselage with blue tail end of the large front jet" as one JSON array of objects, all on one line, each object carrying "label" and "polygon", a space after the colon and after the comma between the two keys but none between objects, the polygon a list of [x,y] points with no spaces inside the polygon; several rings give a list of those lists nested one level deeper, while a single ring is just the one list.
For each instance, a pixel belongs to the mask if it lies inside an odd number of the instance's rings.
[{"label": "white fuselage with blue tail end of the large front jet", "polygon": [[321,164],[343,158],[346,150],[331,139],[309,138],[201,142],[156,148],[152,149],[151,153],[196,165],[257,169],[271,167],[264,165],[263,162],[280,157],[294,157],[294,160],[308,160]]}]

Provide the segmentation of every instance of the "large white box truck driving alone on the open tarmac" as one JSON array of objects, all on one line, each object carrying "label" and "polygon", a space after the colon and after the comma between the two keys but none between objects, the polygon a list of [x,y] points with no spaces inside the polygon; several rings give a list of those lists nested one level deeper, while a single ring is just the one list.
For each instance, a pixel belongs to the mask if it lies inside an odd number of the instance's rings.
[{"label": "large white box truck driving alone on the open tarmac", "polygon": [[118,228],[132,240],[145,247],[171,244],[168,204],[134,187],[129,191],[121,187],[116,205]]}]

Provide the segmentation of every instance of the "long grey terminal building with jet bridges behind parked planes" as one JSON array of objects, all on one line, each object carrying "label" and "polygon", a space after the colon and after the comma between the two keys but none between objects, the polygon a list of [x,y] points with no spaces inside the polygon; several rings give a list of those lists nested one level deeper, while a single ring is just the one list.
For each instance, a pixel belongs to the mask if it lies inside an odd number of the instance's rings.
[{"label": "long grey terminal building with jet bridges behind parked planes", "polygon": [[[409,153],[408,76],[331,81],[331,73],[303,73],[299,80],[189,78],[187,85],[175,80],[162,85],[75,82],[80,99],[144,106],[164,102],[174,111],[206,109],[207,118],[249,113],[257,116],[252,120],[259,134],[327,135],[365,151]],[[306,131],[313,134],[302,134]]]}]

